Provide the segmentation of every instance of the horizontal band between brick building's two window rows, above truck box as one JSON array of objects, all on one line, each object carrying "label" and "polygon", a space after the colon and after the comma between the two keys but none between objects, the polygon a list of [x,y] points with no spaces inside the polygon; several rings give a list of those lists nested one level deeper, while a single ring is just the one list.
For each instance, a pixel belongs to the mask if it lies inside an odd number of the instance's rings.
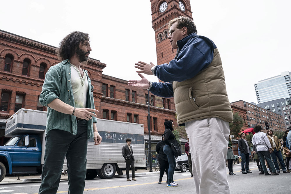
[{"label": "horizontal band between brick building's two window rows, above truck box", "polygon": [[[122,105],[122,106],[128,106],[128,107],[133,107],[133,108],[139,108],[139,109],[143,109],[143,110],[147,110],[148,109],[148,106],[145,105],[145,104],[128,102],[128,101],[125,101],[125,100],[120,100],[120,99],[110,98],[110,97],[104,97],[104,96],[101,98],[101,102],[106,102],[106,103],[109,103],[109,104]],[[173,115],[176,113],[176,111],[174,111],[174,110],[159,108],[159,107],[155,107],[155,106],[150,106],[150,110],[151,111],[163,112],[163,113],[166,113],[166,114],[173,114]]]}]

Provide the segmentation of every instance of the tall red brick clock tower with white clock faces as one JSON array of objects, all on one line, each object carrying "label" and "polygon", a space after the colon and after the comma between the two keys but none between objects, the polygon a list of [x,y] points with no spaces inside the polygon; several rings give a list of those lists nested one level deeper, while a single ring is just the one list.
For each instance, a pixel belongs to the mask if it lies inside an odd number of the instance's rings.
[{"label": "tall red brick clock tower with white clock faces", "polygon": [[157,65],[169,63],[175,58],[177,49],[172,49],[168,39],[168,22],[185,15],[192,19],[189,0],[150,0],[152,7],[152,28],[155,31]]}]

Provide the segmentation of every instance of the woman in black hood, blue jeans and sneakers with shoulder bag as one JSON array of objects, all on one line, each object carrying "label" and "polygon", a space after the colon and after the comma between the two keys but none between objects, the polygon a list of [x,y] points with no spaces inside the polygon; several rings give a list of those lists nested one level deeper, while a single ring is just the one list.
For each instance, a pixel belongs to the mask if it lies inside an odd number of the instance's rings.
[{"label": "woman in black hood, blue jeans and sneakers with shoulder bag", "polygon": [[167,155],[167,159],[168,159],[168,162],[169,162],[167,187],[176,187],[176,186],[178,186],[178,184],[175,183],[174,180],[173,180],[176,159],[175,159],[175,156],[174,156],[173,149],[171,147],[171,142],[174,143],[174,139],[175,139],[175,136],[173,134],[174,124],[173,124],[172,121],[166,121],[166,122],[164,122],[164,125],[165,125],[166,129],[165,129],[165,132],[164,132],[165,145],[163,147],[163,151]]}]

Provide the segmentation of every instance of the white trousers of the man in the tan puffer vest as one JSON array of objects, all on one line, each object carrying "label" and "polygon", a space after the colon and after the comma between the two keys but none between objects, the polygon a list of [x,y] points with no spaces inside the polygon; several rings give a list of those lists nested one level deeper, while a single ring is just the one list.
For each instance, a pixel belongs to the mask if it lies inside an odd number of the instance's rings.
[{"label": "white trousers of the man in the tan puffer vest", "polygon": [[229,194],[226,154],[229,123],[219,118],[186,122],[196,194]]}]

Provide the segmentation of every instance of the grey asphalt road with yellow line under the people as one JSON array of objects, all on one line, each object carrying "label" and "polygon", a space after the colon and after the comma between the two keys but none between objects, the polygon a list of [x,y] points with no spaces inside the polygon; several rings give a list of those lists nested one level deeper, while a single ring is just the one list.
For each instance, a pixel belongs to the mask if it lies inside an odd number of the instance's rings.
[{"label": "grey asphalt road with yellow line under the people", "polygon": [[[259,171],[255,163],[250,164],[252,174],[242,174],[240,165],[234,165],[233,170],[236,176],[229,176],[231,193],[253,193],[253,194],[290,194],[291,192],[291,173],[279,176],[258,175]],[[227,170],[228,172],[228,170]],[[166,182],[157,184],[158,174],[136,176],[137,181],[126,181],[125,177],[113,179],[94,179],[86,180],[84,194],[93,193],[194,193],[195,188],[190,172],[181,173],[176,171],[174,174],[175,182],[178,187],[166,187]],[[164,175],[164,180],[166,175]],[[40,183],[20,183],[1,185],[0,193],[8,194],[37,194]],[[57,193],[68,193],[68,181],[61,181]]]}]

